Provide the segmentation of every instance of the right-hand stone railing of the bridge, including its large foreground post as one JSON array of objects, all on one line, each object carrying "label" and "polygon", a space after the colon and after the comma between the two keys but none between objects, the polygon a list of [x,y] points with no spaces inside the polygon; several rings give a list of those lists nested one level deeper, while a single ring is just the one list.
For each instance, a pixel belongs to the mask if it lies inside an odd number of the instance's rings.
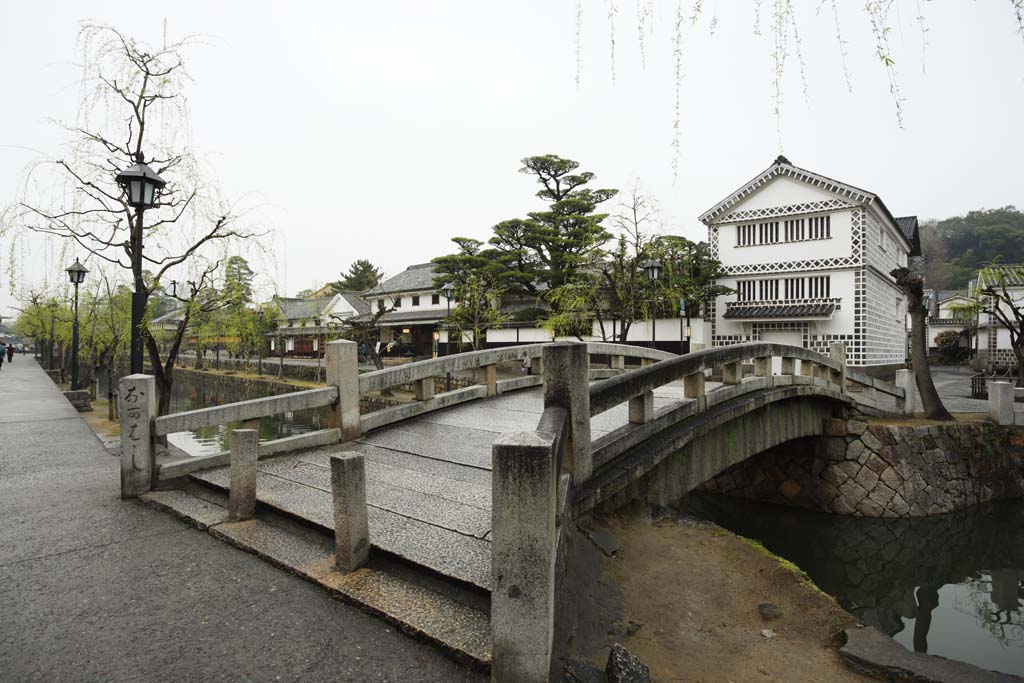
[{"label": "right-hand stone railing of the bridge, including its large foreground post", "polygon": [[[725,346],[644,365],[590,382],[588,347],[543,347],[545,412],[535,431],[502,434],[493,446],[492,680],[547,681],[558,672],[556,633],[570,618],[565,597],[570,520],[596,504],[592,481],[611,475],[616,459],[679,423],[711,413],[744,394],[803,385],[815,393],[878,412],[913,410],[913,375],[899,371],[897,384],[845,365],[845,347],[824,356],[804,348],[753,343]],[[780,375],[772,375],[772,358]],[[754,377],[743,369],[753,362]],[[799,372],[798,372],[799,369]],[[722,386],[708,391],[709,374]],[[654,390],[682,381],[683,399],[654,409]],[[793,392],[785,395],[795,395]],[[623,403],[628,424],[596,439],[591,418]],[[730,419],[728,413],[717,416]],[[620,466],[625,474],[627,466]],[[602,475],[602,476],[598,476]],[[552,679],[557,680],[557,679]]]}]

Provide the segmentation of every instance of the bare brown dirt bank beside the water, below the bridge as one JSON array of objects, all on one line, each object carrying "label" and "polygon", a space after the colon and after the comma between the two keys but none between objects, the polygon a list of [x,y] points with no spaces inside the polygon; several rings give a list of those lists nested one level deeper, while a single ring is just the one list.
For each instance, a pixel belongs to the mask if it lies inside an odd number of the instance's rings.
[{"label": "bare brown dirt bank beside the water, below the bridge", "polygon": [[[612,557],[596,549],[589,556],[602,574],[582,588],[575,658],[603,670],[608,648],[620,642],[659,682],[873,680],[849,670],[837,651],[841,631],[856,620],[756,545],[678,515],[655,520],[630,512],[593,528],[622,548]],[[761,603],[781,615],[766,621]]]}]

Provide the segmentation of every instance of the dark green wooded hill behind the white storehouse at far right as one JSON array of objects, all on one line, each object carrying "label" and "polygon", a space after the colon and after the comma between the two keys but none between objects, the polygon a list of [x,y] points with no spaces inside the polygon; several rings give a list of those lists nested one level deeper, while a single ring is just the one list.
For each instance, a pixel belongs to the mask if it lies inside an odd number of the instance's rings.
[{"label": "dark green wooded hill behind the white storehouse at far right", "polygon": [[1006,206],[933,219],[922,224],[921,243],[927,286],[964,289],[986,263],[1024,263],[1024,213]]}]

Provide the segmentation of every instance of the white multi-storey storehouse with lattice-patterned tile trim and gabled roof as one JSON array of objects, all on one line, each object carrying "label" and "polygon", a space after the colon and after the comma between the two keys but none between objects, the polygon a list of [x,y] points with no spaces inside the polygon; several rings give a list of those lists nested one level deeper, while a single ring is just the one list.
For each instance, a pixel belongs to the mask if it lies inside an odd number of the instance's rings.
[{"label": "white multi-storey storehouse with lattice-patterned tile trim and gabled roof", "polygon": [[921,253],[918,219],[778,157],[700,216],[734,290],[707,307],[714,346],[768,341],[852,366],[906,359],[906,298],[889,274]]}]

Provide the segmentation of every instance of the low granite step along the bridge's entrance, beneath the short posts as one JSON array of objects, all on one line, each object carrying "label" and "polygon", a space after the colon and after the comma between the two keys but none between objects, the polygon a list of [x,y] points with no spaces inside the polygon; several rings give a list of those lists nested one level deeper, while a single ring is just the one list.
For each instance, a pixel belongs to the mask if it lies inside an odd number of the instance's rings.
[{"label": "low granite step along the bridge's entrance, beneath the short posts", "polygon": [[227,497],[200,484],[150,492],[140,500],[321,586],[460,661],[482,671],[490,667],[490,600],[482,591],[384,555],[372,556],[355,571],[339,572],[329,535],[268,511],[254,519],[228,521]]}]

